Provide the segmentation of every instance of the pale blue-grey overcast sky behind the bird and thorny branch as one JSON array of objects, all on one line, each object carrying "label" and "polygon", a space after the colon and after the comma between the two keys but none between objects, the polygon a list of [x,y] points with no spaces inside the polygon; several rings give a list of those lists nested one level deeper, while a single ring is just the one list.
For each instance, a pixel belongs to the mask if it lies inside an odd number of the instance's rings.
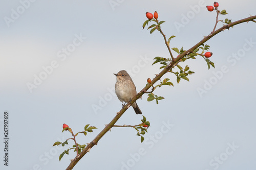
[{"label": "pale blue-grey overcast sky behind the bird and thorny branch", "polygon": [[[62,124],[89,143],[122,105],[113,75],[125,69],[137,91],[160,72],[153,58],[169,58],[163,37],[142,30],[145,12],[158,11],[170,46],[187,50],[213,30],[214,1],[2,1],[0,5],[1,137],[8,111],[8,167],[4,142],[1,169],[66,169],[75,153],[52,147],[70,138]],[[219,16],[236,21],[255,15],[254,0],[219,1]],[[219,22],[217,28],[223,24]],[[151,123],[145,141],[132,128],[112,128],[74,169],[253,169],[255,162],[256,25],[225,30],[208,42],[216,68],[198,56],[188,65],[195,74],[154,93],[164,100],[138,100]],[[175,57],[177,54],[173,52]],[[157,82],[159,83],[159,82]],[[137,125],[142,116],[127,110],[116,125]],[[5,141],[5,140],[4,140]],[[69,140],[69,146],[74,144]]]}]

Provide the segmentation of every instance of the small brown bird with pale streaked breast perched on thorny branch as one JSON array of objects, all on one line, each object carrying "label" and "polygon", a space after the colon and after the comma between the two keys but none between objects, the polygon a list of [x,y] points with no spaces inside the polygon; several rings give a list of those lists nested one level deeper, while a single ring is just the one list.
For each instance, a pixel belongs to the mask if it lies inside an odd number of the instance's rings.
[{"label": "small brown bird with pale streaked breast perched on thorny branch", "polygon": [[[117,98],[124,104],[130,102],[137,94],[132,78],[125,70],[121,70],[114,75],[116,75],[115,91]],[[132,107],[136,114],[142,114],[136,102],[132,104]]]}]

